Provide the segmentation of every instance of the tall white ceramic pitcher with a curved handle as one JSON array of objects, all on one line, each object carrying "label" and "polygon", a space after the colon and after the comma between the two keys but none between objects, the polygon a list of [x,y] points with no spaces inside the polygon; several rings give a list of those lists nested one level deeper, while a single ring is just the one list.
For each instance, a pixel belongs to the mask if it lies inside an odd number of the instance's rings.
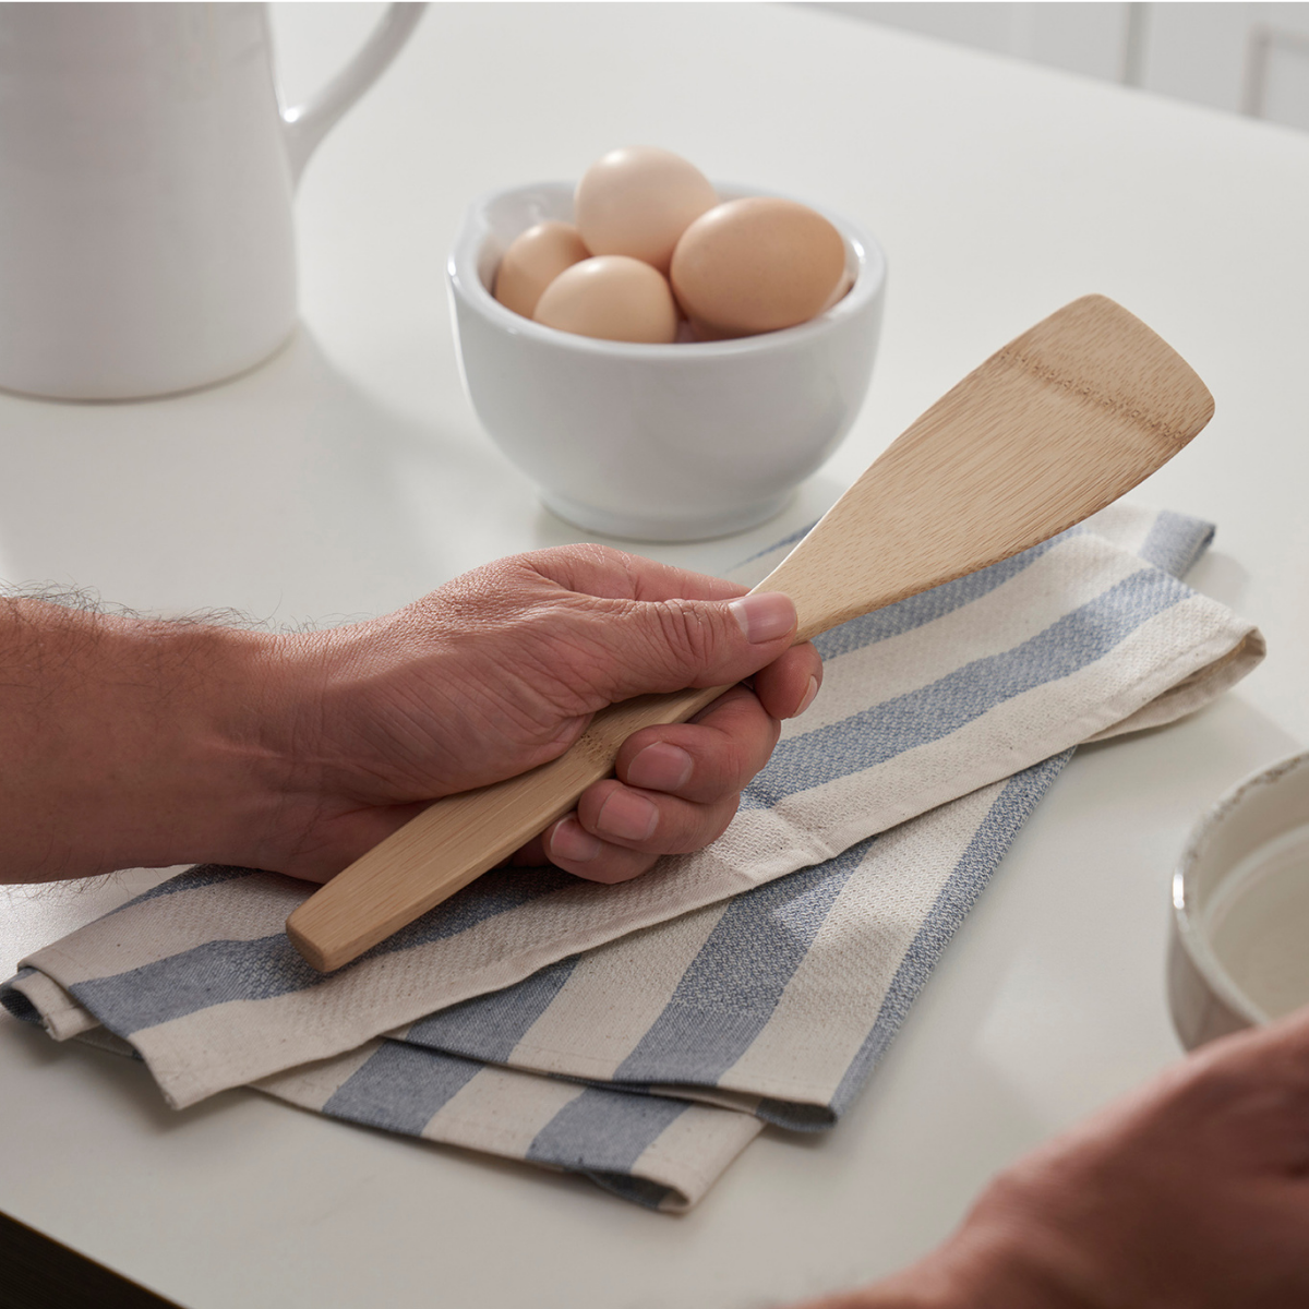
[{"label": "tall white ceramic pitcher with a curved handle", "polygon": [[161,395],[272,353],[300,171],[423,8],[283,109],[262,4],[0,4],[0,386]]}]

